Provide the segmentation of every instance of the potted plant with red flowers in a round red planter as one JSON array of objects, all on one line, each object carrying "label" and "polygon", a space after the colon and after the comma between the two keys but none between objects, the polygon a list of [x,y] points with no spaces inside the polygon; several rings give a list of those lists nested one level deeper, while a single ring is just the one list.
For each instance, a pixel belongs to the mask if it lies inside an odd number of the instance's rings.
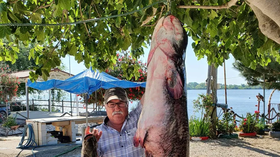
[{"label": "potted plant with red flowers in a round red planter", "polygon": [[252,137],[257,135],[256,114],[252,115],[251,113],[247,113],[246,118],[242,118],[242,121],[240,123],[241,124],[239,124],[239,129],[242,131],[239,133],[239,136]]}]

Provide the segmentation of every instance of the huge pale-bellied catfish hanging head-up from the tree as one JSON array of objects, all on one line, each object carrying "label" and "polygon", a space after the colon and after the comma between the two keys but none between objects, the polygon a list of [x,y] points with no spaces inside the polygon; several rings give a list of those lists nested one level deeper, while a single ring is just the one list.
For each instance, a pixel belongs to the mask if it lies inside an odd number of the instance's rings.
[{"label": "huge pale-bellied catfish hanging head-up from the tree", "polygon": [[185,51],[188,38],[173,15],[155,26],[148,56],[144,106],[134,146],[146,156],[189,156]]}]

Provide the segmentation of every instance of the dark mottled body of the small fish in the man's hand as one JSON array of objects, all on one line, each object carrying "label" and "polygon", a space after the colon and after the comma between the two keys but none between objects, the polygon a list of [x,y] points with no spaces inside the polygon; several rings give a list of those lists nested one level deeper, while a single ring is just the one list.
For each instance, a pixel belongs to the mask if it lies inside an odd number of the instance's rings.
[{"label": "dark mottled body of the small fish in the man's hand", "polygon": [[89,134],[85,136],[82,144],[81,157],[98,157],[97,139],[94,135]]}]

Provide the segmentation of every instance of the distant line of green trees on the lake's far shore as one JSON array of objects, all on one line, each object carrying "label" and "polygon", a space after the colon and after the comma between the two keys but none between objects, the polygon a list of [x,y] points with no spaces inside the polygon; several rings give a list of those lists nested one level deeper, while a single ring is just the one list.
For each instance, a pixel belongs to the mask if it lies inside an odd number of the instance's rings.
[{"label": "distant line of green trees on the lake's far shore", "polygon": [[[187,84],[188,90],[206,90],[205,83],[189,82]],[[220,89],[225,89],[225,84],[220,84]],[[248,86],[245,84],[241,85],[227,85],[227,89],[263,89],[262,86]]]}]

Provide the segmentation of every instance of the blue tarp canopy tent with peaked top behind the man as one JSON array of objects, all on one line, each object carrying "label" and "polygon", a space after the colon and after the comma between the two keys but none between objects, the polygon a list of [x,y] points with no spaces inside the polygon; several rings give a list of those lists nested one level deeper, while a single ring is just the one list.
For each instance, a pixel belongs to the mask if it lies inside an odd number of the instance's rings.
[{"label": "blue tarp canopy tent with peaked top behind the man", "polygon": [[[99,70],[93,70],[92,67],[89,69],[70,77],[66,80],[51,79],[44,82],[34,82],[27,80],[27,87],[35,88],[38,90],[49,90],[53,88],[61,89],[73,94],[92,94],[99,88],[108,89],[112,87],[121,88],[135,88],[135,87],[146,87],[146,82],[131,82],[126,80],[117,79],[105,72],[99,72]],[[26,87],[26,88],[27,88]],[[28,99],[28,93],[27,93]],[[88,97],[87,97],[88,99]],[[86,99],[86,100],[87,100]],[[28,102],[28,101],[27,101]],[[86,101],[87,102],[87,101]],[[27,103],[28,105],[28,103]],[[29,106],[27,106],[28,108]],[[78,110],[77,110],[78,112]],[[86,123],[88,125],[88,106],[86,104]]]}]

